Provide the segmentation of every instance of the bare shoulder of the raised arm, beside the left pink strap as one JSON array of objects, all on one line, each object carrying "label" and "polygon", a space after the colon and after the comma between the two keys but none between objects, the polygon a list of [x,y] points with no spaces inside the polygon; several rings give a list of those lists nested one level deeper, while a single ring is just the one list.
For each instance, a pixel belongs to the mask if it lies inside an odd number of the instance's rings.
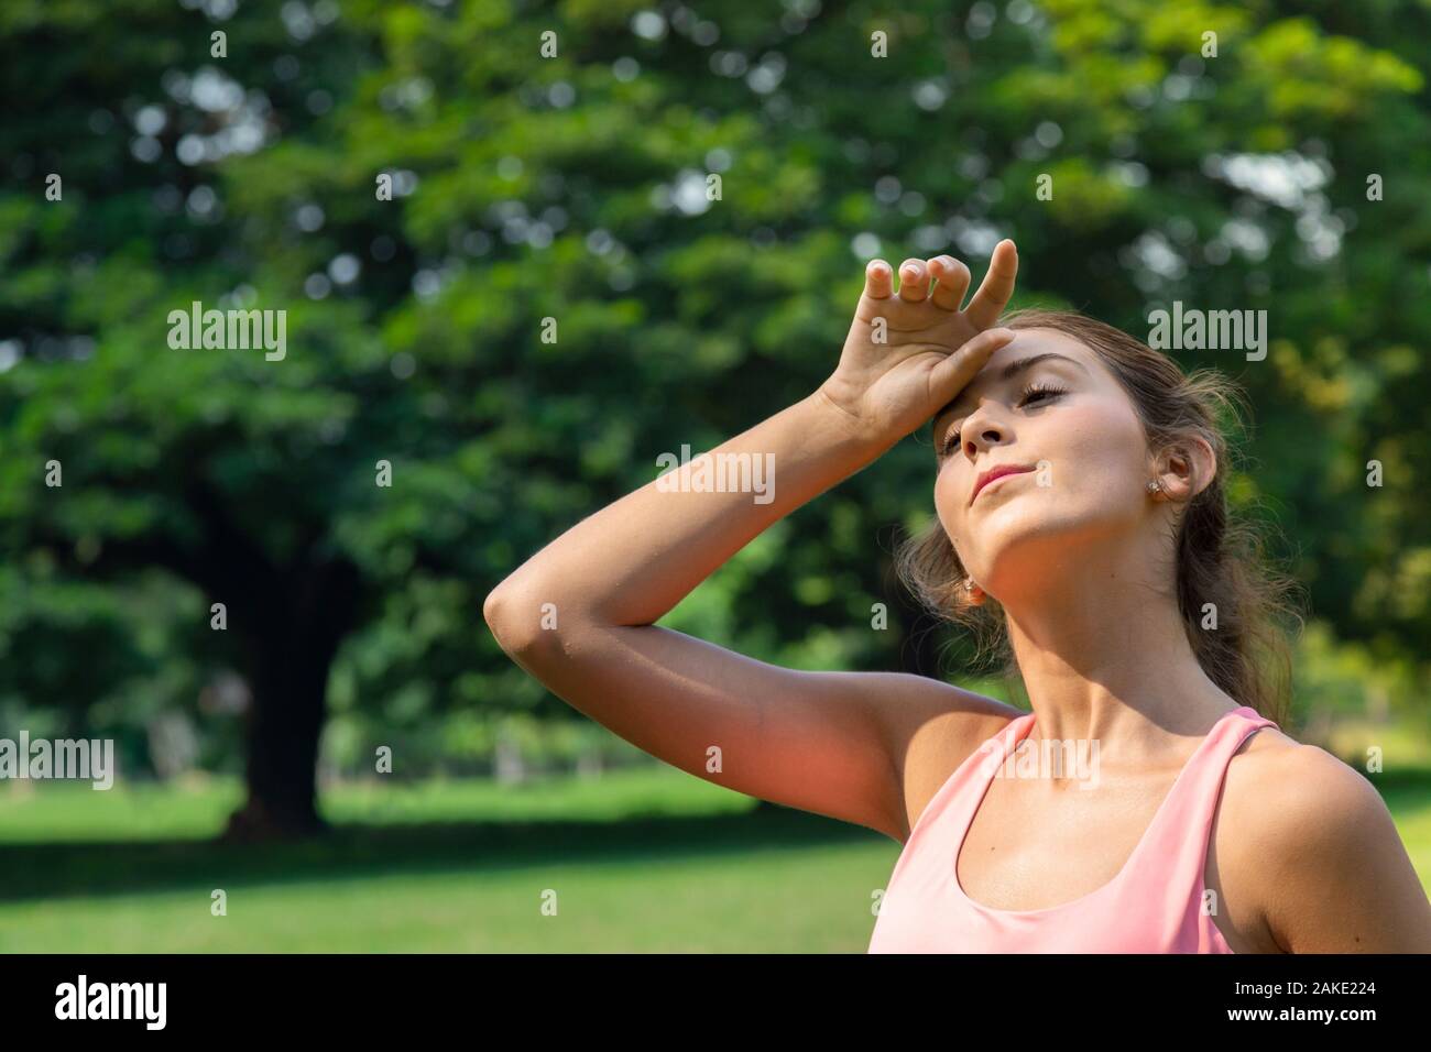
[{"label": "bare shoulder of the raised arm, beside the left pink strap", "polygon": [[902,803],[899,840],[909,839],[934,793],[970,753],[1026,713],[985,694],[923,676],[899,674],[899,698],[881,723]]}]

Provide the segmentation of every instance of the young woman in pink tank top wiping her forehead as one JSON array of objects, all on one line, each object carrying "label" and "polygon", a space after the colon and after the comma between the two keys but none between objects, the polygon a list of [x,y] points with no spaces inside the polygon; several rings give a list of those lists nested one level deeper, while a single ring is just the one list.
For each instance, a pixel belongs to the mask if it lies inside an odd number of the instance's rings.
[{"label": "young woman in pink tank top wiping her forehead", "polygon": [[[627,494],[488,595],[497,640],[670,764],[903,843],[871,952],[1431,950],[1377,790],[1276,727],[1276,590],[1222,488],[1231,388],[1079,315],[995,328],[1016,269],[1002,242],[962,308],[949,256],[906,260],[897,293],[873,260],[830,378],[713,451],[773,457],[770,495]],[[902,570],[952,620],[995,615],[1030,713],[655,627],[930,418],[937,522]]]}]

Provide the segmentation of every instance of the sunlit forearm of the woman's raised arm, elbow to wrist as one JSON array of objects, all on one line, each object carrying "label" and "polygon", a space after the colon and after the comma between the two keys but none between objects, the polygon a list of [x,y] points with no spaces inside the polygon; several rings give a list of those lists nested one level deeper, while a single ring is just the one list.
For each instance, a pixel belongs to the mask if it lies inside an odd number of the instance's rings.
[{"label": "sunlit forearm of the woman's raised arm, elbow to wrist", "polygon": [[571,527],[502,581],[488,608],[505,595],[517,605],[507,617],[532,625],[545,603],[558,623],[653,624],[771,522],[890,445],[860,434],[816,392],[710,451],[707,485],[721,478],[723,457],[748,457],[753,471],[727,479],[756,482],[763,492],[700,491],[695,457]]}]

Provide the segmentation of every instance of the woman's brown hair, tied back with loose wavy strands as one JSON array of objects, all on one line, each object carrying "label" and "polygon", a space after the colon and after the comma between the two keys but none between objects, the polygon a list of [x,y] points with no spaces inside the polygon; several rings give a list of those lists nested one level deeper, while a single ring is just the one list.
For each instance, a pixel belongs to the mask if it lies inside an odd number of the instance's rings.
[{"label": "woman's brown hair, tied back with loose wavy strands", "polygon": [[[1264,558],[1261,528],[1228,510],[1225,472],[1234,449],[1221,414],[1242,428],[1242,389],[1213,369],[1183,374],[1168,355],[1072,311],[1025,309],[999,323],[1056,329],[1098,354],[1128,392],[1153,452],[1176,449],[1192,435],[1212,447],[1218,458],[1213,478],[1188,501],[1176,527],[1178,607],[1208,678],[1239,704],[1285,724],[1291,713],[1291,623],[1299,630],[1302,614],[1294,595],[1296,583],[1271,570]],[[969,601],[964,567],[937,518],[899,544],[894,565],[930,613],[970,628],[979,656],[997,651],[1005,660],[1002,674],[1017,677],[1002,607],[992,595],[982,605]],[[1208,603],[1216,611],[1216,630],[1201,627]]]}]

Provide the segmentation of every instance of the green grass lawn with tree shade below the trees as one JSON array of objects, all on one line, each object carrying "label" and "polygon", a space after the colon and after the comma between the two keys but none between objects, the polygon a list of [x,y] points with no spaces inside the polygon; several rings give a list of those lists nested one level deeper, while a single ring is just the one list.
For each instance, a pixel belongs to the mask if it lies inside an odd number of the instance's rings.
[{"label": "green grass lawn with tree shade below the trees", "polygon": [[[1378,787],[1431,886],[1431,771]],[[265,847],[207,840],[228,780],[24,789],[0,787],[3,952],[859,953],[899,854],[671,767],[338,786],[331,836]]]}]

